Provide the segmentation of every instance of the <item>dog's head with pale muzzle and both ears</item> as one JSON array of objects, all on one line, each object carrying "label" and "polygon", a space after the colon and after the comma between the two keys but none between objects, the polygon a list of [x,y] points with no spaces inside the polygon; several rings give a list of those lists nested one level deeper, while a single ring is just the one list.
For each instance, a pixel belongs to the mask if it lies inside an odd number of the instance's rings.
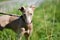
[{"label": "dog's head with pale muzzle and both ears", "polygon": [[26,23],[31,23],[32,21],[32,16],[35,10],[35,6],[31,5],[30,7],[21,7],[19,8],[19,10],[22,12],[22,14],[24,15],[24,19]]}]

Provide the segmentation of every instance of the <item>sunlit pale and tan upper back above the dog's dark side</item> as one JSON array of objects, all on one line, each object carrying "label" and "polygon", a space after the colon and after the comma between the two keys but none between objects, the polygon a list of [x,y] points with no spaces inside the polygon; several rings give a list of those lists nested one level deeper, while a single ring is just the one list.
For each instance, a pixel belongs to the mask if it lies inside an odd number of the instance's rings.
[{"label": "sunlit pale and tan upper back above the dog's dark side", "polygon": [[13,22],[14,20],[17,20],[17,19],[18,19],[17,16],[10,16],[10,15],[2,15],[2,16],[0,16],[0,29],[5,28],[6,25],[10,24],[11,22]]}]

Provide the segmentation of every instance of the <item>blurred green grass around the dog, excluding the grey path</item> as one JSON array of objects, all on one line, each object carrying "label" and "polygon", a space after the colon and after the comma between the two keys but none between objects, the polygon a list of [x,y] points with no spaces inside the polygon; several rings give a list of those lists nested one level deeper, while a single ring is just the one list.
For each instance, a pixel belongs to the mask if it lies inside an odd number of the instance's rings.
[{"label": "blurred green grass around the dog, excluding the grey path", "polygon": [[[7,13],[21,15],[16,9]],[[0,31],[0,40],[16,40],[16,35],[11,29],[4,29]],[[60,0],[46,0],[35,9],[30,40],[60,40]]]}]

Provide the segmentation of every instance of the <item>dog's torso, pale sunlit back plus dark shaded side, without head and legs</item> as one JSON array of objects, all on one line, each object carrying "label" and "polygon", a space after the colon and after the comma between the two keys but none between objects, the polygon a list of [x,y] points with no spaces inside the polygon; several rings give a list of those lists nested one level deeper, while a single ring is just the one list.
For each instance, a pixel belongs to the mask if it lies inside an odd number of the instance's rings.
[{"label": "dog's torso, pale sunlit back plus dark shaded side, without head and legs", "polygon": [[17,32],[21,27],[25,27],[23,16],[2,15],[0,16],[0,28],[11,28]]}]

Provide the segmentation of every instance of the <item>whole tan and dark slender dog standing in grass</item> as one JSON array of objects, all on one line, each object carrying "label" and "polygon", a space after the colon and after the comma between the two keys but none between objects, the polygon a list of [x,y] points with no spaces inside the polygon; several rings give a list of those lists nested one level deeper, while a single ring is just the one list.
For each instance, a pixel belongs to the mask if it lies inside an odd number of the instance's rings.
[{"label": "whole tan and dark slender dog standing in grass", "polygon": [[19,8],[22,12],[22,15],[19,17],[10,15],[0,16],[0,29],[11,28],[20,36],[18,40],[21,40],[23,35],[25,35],[26,40],[29,40],[33,31],[32,17],[34,8],[34,6]]}]

